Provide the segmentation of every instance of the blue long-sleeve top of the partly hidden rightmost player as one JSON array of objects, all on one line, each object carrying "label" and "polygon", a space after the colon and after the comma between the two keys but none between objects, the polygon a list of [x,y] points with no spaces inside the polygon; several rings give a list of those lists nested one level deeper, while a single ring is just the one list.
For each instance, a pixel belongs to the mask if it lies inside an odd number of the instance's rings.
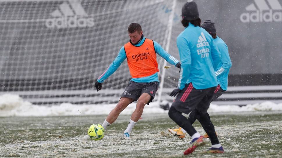
[{"label": "blue long-sleeve top of the partly hidden rightmost player", "polygon": [[215,70],[215,75],[217,76],[217,81],[221,89],[227,90],[228,74],[232,66],[232,62],[228,53],[228,47],[226,43],[218,36],[216,39],[214,39],[214,43],[217,45],[217,48],[221,53],[221,61]]}]

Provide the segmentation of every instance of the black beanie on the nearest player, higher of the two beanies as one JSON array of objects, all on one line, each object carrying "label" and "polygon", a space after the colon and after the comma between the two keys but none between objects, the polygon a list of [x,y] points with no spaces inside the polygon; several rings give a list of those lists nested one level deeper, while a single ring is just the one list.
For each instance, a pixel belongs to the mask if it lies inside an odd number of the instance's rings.
[{"label": "black beanie on the nearest player, higher of the two beanies", "polygon": [[182,7],[182,19],[191,21],[199,18],[198,6],[197,4],[192,2],[187,2]]}]

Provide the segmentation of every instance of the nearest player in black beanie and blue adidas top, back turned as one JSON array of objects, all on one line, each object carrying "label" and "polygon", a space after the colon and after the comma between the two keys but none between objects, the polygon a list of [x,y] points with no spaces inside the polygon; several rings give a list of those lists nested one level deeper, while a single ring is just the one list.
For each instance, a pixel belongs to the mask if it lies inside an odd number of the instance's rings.
[{"label": "nearest player in black beanie and blue adidas top, back turned", "polygon": [[223,153],[214,126],[210,121],[207,109],[217,87],[214,69],[221,61],[221,55],[212,36],[201,28],[197,4],[187,2],[182,7],[182,25],[185,30],[179,34],[176,43],[181,61],[181,73],[178,88],[170,96],[176,96],[169,117],[187,131],[192,141],[184,155],[191,154],[198,146],[207,143],[190,121],[182,115],[195,110],[196,119],[201,123],[210,137],[212,148],[206,152]]}]

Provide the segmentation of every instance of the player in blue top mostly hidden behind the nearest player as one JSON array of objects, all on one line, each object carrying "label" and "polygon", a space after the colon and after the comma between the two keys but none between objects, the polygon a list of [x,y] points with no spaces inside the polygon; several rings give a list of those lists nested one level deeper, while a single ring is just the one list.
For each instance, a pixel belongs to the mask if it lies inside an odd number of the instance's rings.
[{"label": "player in blue top mostly hidden behind the nearest player", "polygon": [[[201,25],[202,28],[204,28],[210,35],[212,35],[212,38],[214,39],[214,43],[216,44],[217,48],[219,49],[219,52],[221,53],[221,61],[219,65],[217,66],[217,69],[215,71],[215,75],[217,76],[218,86],[217,89],[214,91],[214,95],[212,97],[211,101],[216,100],[218,97],[220,97],[223,92],[227,90],[228,85],[228,74],[229,69],[232,66],[231,59],[229,57],[228,53],[228,47],[226,43],[217,36],[217,32],[214,26],[214,22],[210,20],[204,21],[204,23]],[[210,118],[210,116],[208,115]],[[196,112],[193,110],[188,117],[188,120],[191,124],[193,124],[196,121]],[[187,132],[183,128],[177,128],[177,129],[168,129],[171,134],[178,136],[179,138],[183,139]],[[208,135],[204,135],[205,138],[208,138]]]}]

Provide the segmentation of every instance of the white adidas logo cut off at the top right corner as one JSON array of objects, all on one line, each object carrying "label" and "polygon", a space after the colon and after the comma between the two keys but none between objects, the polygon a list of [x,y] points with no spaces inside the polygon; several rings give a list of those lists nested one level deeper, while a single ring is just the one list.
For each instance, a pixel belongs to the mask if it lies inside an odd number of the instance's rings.
[{"label": "white adidas logo cut off at the top right corner", "polygon": [[241,14],[240,20],[243,23],[282,21],[282,6],[278,0],[254,0],[254,2],[246,7],[249,12]]}]

